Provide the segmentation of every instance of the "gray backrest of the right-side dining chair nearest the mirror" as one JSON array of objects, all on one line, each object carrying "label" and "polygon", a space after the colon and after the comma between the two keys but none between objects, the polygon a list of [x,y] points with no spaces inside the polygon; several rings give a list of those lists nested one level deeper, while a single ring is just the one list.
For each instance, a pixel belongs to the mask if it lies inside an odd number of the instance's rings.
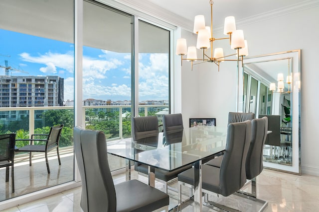
[{"label": "gray backrest of the right-side dining chair nearest the mirror", "polygon": [[268,118],[251,121],[252,137],[246,158],[246,177],[251,180],[263,170],[263,149],[267,137]]}]

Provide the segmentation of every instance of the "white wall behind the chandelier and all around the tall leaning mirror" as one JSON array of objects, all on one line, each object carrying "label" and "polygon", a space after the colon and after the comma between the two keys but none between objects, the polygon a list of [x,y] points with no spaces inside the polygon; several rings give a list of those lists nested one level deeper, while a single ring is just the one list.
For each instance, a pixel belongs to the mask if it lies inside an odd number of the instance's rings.
[{"label": "white wall behind the chandelier and all around the tall leaning mirror", "polygon": [[[248,40],[249,56],[301,49],[301,164],[302,173],[319,176],[319,7],[297,11],[260,22],[238,26]],[[223,37],[221,33],[215,37]],[[188,40],[187,40],[188,42]],[[195,43],[195,41],[194,41]],[[215,42],[216,46],[218,41]],[[230,49],[222,44],[224,52]],[[187,63],[187,62],[186,62]],[[185,64],[186,64],[185,63]],[[189,65],[189,64],[187,64]],[[190,65],[189,65],[190,66]],[[188,117],[214,117],[217,126],[227,124],[227,114],[236,110],[236,63],[197,65],[193,72],[182,67],[182,113]],[[197,89],[191,85],[197,84]],[[197,103],[189,103],[197,100]]]}]

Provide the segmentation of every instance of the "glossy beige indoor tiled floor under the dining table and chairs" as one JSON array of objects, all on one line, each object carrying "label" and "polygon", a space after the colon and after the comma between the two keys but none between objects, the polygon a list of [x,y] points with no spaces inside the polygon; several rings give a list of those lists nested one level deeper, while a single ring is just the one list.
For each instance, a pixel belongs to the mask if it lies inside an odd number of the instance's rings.
[{"label": "glossy beige indoor tiled floor under the dining table and chairs", "polygon": [[[139,179],[145,180],[139,176]],[[124,175],[114,177],[114,183],[124,180]],[[158,188],[162,188],[157,183]],[[265,212],[319,212],[319,177],[292,175],[264,169],[257,178],[257,196],[269,202]],[[47,198],[19,205],[5,212],[82,212],[80,208],[81,187]],[[213,197],[216,198],[216,197]],[[171,199],[171,202],[176,200]],[[237,196],[229,196],[227,204],[241,208],[243,212],[258,211],[258,204]],[[183,210],[193,212],[192,205]],[[203,207],[204,212],[214,210]]]}]

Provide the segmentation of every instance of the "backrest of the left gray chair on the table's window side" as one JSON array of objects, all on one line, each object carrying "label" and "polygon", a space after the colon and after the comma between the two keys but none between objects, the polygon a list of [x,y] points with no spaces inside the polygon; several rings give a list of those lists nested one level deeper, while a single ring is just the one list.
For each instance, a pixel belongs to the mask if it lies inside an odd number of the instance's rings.
[{"label": "backrest of the left gray chair on the table's window side", "polygon": [[[150,137],[159,136],[159,122],[157,116],[143,116],[132,118],[133,141],[148,142]],[[155,141],[155,139],[154,139]],[[156,140],[156,143],[158,140]],[[152,143],[150,143],[152,144]]]}]

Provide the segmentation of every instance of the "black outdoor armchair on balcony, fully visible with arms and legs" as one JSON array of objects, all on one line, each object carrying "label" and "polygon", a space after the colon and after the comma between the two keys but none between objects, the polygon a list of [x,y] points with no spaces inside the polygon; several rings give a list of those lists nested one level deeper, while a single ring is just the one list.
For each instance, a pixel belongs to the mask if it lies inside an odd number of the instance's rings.
[{"label": "black outdoor armchair on balcony, fully visible with arms and legs", "polygon": [[[45,152],[45,162],[48,174],[50,174],[48,152],[56,148],[56,153],[59,160],[59,165],[61,165],[60,155],[59,155],[59,140],[61,136],[63,125],[56,125],[51,127],[49,134],[33,134],[31,139],[17,139],[15,141],[29,141],[29,145],[22,146],[15,151],[17,152],[30,152],[30,166],[32,164],[32,152]],[[46,139],[35,139],[35,136],[47,136]],[[34,145],[33,141],[44,141],[45,144]]]}]

